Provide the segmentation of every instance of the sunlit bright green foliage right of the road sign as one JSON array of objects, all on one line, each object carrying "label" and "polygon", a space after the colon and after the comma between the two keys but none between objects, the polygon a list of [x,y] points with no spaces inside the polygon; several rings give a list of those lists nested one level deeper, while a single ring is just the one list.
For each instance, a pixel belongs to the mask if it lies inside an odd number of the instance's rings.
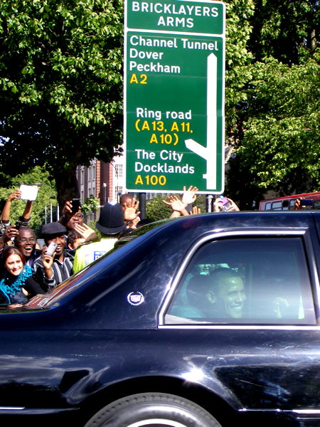
[{"label": "sunlit bright green foliage right of the road sign", "polygon": [[284,65],[272,58],[252,69],[247,121],[238,154],[267,189],[301,168],[319,180],[320,65]]}]

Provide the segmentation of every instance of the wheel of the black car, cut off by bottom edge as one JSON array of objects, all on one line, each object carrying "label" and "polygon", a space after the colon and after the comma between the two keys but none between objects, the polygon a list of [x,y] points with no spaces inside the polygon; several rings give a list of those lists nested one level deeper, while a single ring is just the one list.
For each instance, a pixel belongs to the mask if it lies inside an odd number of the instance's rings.
[{"label": "wheel of the black car, cut off by bottom edge", "polygon": [[105,406],[85,427],[221,427],[205,409],[179,396],[133,394]]}]

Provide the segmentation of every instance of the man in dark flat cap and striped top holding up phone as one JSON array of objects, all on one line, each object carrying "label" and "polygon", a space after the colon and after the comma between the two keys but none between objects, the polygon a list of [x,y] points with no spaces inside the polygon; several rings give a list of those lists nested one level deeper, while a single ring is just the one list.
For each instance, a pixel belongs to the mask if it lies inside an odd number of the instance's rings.
[{"label": "man in dark flat cap and striped top holding up phone", "polygon": [[[73,275],[73,255],[65,248],[67,230],[59,222],[47,223],[41,228],[46,246],[40,257],[33,263],[36,278],[41,280],[43,290],[55,288],[59,283]],[[52,255],[47,253],[51,242],[56,243]]]}]

